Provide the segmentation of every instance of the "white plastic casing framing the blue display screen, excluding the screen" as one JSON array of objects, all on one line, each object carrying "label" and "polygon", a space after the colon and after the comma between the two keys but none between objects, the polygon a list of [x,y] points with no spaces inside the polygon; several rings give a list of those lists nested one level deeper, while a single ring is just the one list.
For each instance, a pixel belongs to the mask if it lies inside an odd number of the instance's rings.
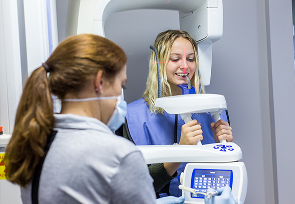
[{"label": "white plastic casing framing the blue display screen, excluding the screen", "polygon": [[[191,187],[193,170],[197,169],[216,169],[216,170],[232,170],[232,194],[238,198],[242,203],[245,201],[247,193],[247,170],[243,162],[229,162],[229,163],[188,163],[183,173],[182,184],[186,187]],[[203,204],[204,198],[191,197],[191,193],[182,190],[182,195],[185,196],[185,203],[188,204]]]}]

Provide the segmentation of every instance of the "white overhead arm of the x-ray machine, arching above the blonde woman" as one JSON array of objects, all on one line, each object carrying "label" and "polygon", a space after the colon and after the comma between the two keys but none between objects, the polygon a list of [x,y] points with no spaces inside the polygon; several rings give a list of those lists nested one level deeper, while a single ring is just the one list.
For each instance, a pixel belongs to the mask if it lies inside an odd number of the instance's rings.
[{"label": "white overhead arm of the x-ray machine, arching above the blonde woman", "polygon": [[209,85],[212,43],[222,37],[222,0],[70,0],[66,35],[93,33],[105,37],[104,24],[111,14],[136,9],[179,11],[180,28],[198,42],[203,84]]}]

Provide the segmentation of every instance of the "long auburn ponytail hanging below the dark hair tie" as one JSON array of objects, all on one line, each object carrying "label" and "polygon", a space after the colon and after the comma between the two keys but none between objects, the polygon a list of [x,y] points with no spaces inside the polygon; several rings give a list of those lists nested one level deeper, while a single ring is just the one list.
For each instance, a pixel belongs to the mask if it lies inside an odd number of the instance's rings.
[{"label": "long auburn ponytail hanging below the dark hair tie", "polygon": [[21,186],[32,180],[53,124],[47,72],[41,66],[27,80],[19,103],[14,132],[6,149],[8,180]]}]

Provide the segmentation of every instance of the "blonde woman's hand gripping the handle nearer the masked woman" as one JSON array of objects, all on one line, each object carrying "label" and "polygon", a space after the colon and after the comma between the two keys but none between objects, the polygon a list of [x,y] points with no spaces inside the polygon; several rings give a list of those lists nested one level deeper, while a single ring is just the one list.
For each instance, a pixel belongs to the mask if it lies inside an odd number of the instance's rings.
[{"label": "blonde woman's hand gripping the handle nearer the masked woman", "polygon": [[193,119],[182,125],[179,144],[195,145],[197,141],[203,139],[202,133],[201,123]]}]

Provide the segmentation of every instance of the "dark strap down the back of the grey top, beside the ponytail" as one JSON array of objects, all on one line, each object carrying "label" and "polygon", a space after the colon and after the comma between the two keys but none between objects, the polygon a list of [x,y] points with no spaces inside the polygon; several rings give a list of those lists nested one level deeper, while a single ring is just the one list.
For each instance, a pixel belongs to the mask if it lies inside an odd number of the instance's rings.
[{"label": "dark strap down the back of the grey top, beside the ponytail", "polygon": [[38,190],[39,190],[39,181],[40,181],[40,175],[42,166],[45,160],[45,157],[47,155],[47,152],[50,148],[50,145],[52,141],[54,140],[54,137],[56,135],[57,131],[53,130],[47,137],[47,142],[44,148],[44,156],[41,158],[40,162],[35,168],[35,173],[32,181],[32,204],[38,204]]}]

